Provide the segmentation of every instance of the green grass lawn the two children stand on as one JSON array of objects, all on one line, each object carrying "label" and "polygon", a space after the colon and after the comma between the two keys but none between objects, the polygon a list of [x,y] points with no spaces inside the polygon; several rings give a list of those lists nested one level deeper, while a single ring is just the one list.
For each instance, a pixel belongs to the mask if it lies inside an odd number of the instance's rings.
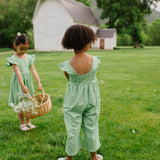
[{"label": "green grass lawn the two children stand on", "polygon": [[[97,72],[101,92],[99,121],[104,160],[160,159],[160,48],[88,51],[101,56]],[[12,67],[0,55],[0,160],[57,160],[65,156],[63,97],[67,80],[58,63],[72,52],[36,52],[35,66],[52,110],[32,120],[37,129],[22,132],[16,113],[7,106]],[[35,88],[36,83],[34,81]],[[83,135],[83,134],[82,134]],[[90,160],[85,148],[75,160]]]}]

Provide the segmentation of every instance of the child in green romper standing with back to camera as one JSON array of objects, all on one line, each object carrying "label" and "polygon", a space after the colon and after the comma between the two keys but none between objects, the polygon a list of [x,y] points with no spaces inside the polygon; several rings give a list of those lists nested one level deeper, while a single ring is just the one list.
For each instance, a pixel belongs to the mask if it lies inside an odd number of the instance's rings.
[{"label": "child in green romper standing with back to camera", "polygon": [[67,157],[59,160],[72,160],[81,149],[81,123],[84,147],[90,152],[92,160],[103,158],[97,155],[100,147],[98,128],[100,92],[96,71],[100,57],[86,53],[95,40],[95,33],[83,25],[70,26],[62,39],[62,46],[66,49],[74,49],[74,56],[59,64],[69,81],[63,102],[64,120],[68,133],[65,150]]}]

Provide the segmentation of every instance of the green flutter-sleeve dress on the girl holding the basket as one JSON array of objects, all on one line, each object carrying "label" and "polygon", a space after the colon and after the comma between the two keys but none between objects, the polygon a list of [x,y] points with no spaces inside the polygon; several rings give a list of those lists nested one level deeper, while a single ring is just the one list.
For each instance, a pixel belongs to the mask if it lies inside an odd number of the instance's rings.
[{"label": "green flutter-sleeve dress on the girl holding the basket", "polygon": [[[23,83],[25,86],[28,87],[30,94],[33,95],[34,87],[32,82],[32,77],[30,74],[30,66],[34,64],[35,55],[26,55],[25,58],[19,58],[15,55],[7,58],[7,66],[12,66],[15,64],[19,67],[21,76],[23,79]],[[8,105],[14,106],[19,101],[19,96],[23,94],[22,88],[18,82],[18,78],[16,73],[14,72],[11,78],[11,85],[10,85],[10,93],[9,93],[9,100]]]}]

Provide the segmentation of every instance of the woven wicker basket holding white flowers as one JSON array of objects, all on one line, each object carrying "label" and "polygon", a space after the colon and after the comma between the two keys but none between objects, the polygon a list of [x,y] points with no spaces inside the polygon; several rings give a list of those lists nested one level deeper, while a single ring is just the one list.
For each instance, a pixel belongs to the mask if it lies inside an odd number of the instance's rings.
[{"label": "woven wicker basket holding white flowers", "polygon": [[[36,90],[35,93],[37,91],[38,90]],[[29,111],[22,111],[21,112],[22,115],[24,117],[26,117],[27,119],[33,119],[36,117],[40,117],[40,116],[48,113],[51,110],[52,103],[51,103],[50,96],[48,94],[45,94],[44,90],[42,90],[42,91],[43,91],[43,94],[35,95],[35,93],[34,93],[34,96],[32,96],[30,98],[30,100],[33,102],[34,105],[35,105],[35,102],[34,102],[33,98],[35,98],[40,103],[39,106],[34,108],[34,111],[36,112],[36,114],[32,113],[33,112],[32,109],[29,109]]]}]

